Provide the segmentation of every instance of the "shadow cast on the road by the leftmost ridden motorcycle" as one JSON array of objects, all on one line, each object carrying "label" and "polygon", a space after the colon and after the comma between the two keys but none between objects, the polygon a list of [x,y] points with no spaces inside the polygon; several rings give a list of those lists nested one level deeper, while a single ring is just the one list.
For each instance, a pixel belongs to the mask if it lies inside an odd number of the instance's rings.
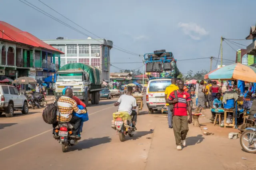
[{"label": "shadow cast on the road by the leftmost ridden motorcycle", "polygon": [[70,147],[70,151],[89,149],[89,148],[92,148],[93,146],[111,142],[111,140],[112,138],[110,138],[109,136],[102,137],[102,138],[85,139],[78,142],[77,145]]}]

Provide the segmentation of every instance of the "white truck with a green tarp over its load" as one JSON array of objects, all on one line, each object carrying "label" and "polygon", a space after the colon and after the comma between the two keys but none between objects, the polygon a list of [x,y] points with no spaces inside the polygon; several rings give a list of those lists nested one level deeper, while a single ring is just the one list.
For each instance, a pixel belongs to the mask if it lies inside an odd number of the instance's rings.
[{"label": "white truck with a green tarp over its load", "polygon": [[97,67],[82,63],[69,63],[56,72],[55,97],[61,96],[65,87],[70,86],[73,93],[86,106],[91,101],[92,105],[100,102],[102,89],[102,75]]}]

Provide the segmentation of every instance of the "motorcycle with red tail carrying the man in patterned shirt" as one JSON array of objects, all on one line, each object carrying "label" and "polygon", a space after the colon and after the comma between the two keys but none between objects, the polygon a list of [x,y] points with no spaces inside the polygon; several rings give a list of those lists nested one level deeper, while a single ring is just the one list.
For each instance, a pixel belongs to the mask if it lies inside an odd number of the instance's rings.
[{"label": "motorcycle with red tail carrying the man in patterned shirt", "polygon": [[73,125],[66,122],[59,122],[55,127],[54,138],[61,144],[62,152],[67,152],[68,146],[77,144],[78,138],[72,135]]}]

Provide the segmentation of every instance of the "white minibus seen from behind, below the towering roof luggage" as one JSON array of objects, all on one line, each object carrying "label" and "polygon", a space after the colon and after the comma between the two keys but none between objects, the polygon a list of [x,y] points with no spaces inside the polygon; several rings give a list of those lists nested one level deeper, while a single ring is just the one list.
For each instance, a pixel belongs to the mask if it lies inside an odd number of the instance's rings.
[{"label": "white minibus seen from behind, below the towering roof luggage", "polygon": [[149,113],[154,113],[154,110],[162,109],[166,105],[164,99],[164,91],[166,87],[171,85],[172,79],[160,78],[148,81],[146,89],[146,101]]}]

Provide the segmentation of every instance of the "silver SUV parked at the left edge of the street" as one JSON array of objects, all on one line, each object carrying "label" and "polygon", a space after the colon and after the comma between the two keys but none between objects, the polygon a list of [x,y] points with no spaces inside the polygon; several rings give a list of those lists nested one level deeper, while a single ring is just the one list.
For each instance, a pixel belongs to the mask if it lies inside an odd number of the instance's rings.
[{"label": "silver SUV parked at the left edge of the street", "polygon": [[0,85],[0,115],[5,113],[6,117],[13,117],[14,111],[28,114],[28,100],[26,96],[20,95],[18,89],[12,85]]}]

